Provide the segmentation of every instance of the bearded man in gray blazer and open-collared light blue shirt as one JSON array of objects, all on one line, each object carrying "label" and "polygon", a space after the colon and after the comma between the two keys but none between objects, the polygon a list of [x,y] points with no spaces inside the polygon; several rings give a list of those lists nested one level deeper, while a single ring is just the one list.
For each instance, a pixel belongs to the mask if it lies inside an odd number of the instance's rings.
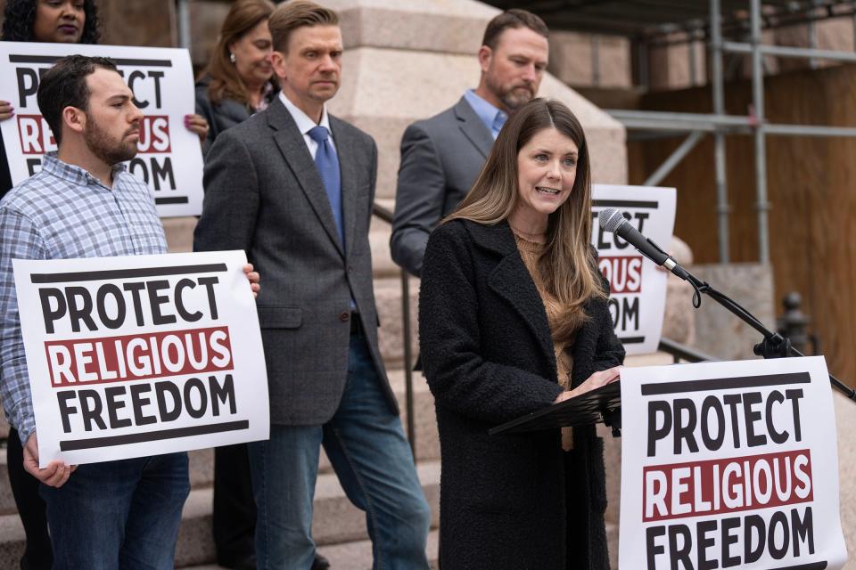
[{"label": "bearded man in gray blazer and open-collared light blue shirt", "polygon": [[451,109],[407,127],[390,246],[408,272],[422,272],[428,234],[470,191],[509,113],[538,93],[547,55],[544,20],[525,10],[502,12],[484,30],[479,86]]}]

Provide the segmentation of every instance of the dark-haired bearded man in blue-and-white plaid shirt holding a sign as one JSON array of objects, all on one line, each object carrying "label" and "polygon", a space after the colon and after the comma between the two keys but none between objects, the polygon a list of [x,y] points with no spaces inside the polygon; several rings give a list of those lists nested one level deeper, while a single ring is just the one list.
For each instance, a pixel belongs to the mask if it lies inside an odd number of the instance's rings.
[{"label": "dark-haired bearded man in blue-and-white plaid shirt holding a sign", "polygon": [[[38,108],[59,150],[0,200],[0,395],[40,482],[54,570],[173,567],[190,484],[187,454],[38,467],[12,259],[162,254],[167,240],[145,183],[128,174],[143,114],[115,64],[72,55],[45,72]],[[258,274],[244,267],[252,281]],[[253,282],[252,289],[258,290]],[[72,472],[73,475],[72,475]]]}]

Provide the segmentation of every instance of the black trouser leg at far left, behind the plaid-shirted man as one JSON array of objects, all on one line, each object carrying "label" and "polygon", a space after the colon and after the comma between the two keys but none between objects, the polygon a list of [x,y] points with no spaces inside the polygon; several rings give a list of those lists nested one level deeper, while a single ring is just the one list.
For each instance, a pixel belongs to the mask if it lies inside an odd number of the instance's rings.
[{"label": "black trouser leg at far left, behind the plaid-shirted man", "polygon": [[24,470],[24,451],[15,428],[9,428],[6,445],[9,484],[12,485],[12,495],[27,536],[21,570],[50,570],[53,549],[47,533],[45,501],[38,495],[38,479]]}]

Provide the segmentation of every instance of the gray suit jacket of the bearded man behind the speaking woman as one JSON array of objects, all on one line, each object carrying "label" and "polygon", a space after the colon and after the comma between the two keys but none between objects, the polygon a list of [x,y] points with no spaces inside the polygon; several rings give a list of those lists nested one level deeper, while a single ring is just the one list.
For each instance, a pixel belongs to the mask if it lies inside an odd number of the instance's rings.
[{"label": "gray suit jacket of the bearded man behind the speaking woman", "polygon": [[407,127],[390,240],[395,263],[422,273],[428,235],[470,191],[492,146],[490,130],[464,97]]}]

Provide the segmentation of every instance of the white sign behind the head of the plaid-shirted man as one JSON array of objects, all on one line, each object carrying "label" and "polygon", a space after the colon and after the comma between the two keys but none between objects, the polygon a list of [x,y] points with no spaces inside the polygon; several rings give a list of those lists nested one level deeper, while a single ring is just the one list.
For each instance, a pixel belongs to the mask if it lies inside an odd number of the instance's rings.
[{"label": "white sign behind the head of the plaid-shirted man", "polygon": [[202,213],[202,147],[185,128],[195,109],[193,68],[187,50],[123,45],[0,42],[0,85],[15,115],[0,121],[12,184],[35,174],[42,155],[55,151],[51,129],[38,110],[41,73],[55,61],[78,53],[110,57],[134,92],[144,119],[139,151],[128,170],[149,185],[161,216]]}]

